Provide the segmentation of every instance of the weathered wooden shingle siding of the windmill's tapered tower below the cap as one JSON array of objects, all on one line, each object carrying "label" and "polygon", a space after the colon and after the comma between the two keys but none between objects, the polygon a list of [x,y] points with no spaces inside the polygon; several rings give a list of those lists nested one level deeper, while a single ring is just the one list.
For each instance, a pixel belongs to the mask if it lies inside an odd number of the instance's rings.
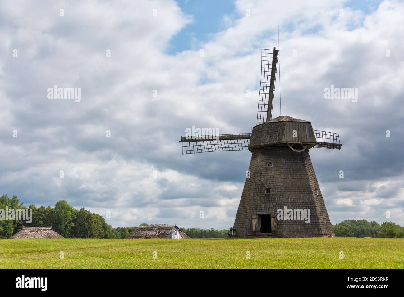
[{"label": "weathered wooden shingle siding of the windmill's tapered tower below the cap", "polygon": [[[273,161],[273,167],[266,166],[269,161]],[[249,170],[250,178],[246,178],[233,226],[237,236],[257,236],[257,232],[252,231],[252,218],[260,213],[273,214],[273,231],[269,236],[334,236],[307,151],[294,152],[288,146],[255,149]],[[265,188],[271,188],[271,194],[266,195]],[[318,195],[316,189],[319,189]],[[277,210],[284,206],[288,209],[310,209],[310,223],[278,220]]]}]

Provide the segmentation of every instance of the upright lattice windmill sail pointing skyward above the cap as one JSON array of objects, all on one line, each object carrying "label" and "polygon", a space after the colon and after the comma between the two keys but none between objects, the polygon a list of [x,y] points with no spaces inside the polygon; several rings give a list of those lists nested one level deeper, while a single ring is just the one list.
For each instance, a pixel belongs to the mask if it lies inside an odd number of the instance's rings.
[{"label": "upright lattice windmill sail pointing skyward above the cap", "polygon": [[269,121],[274,106],[276,68],[279,50],[261,50],[261,80],[259,84],[259,100],[257,125]]}]

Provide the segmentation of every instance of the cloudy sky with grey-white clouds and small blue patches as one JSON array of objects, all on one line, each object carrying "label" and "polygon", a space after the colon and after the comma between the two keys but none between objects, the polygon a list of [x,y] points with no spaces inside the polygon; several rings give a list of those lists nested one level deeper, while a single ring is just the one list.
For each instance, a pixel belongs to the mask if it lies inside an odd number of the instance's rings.
[{"label": "cloudy sky with grey-white clouds and small blue patches", "polygon": [[[114,227],[229,228],[251,153],[178,141],[193,125],[251,131],[279,24],[282,115],[343,143],[310,151],[331,222],[404,224],[403,15],[376,0],[1,1],[0,190],[109,210]],[[48,98],[55,85],[80,102]],[[324,98],[332,85],[358,101]]]}]

